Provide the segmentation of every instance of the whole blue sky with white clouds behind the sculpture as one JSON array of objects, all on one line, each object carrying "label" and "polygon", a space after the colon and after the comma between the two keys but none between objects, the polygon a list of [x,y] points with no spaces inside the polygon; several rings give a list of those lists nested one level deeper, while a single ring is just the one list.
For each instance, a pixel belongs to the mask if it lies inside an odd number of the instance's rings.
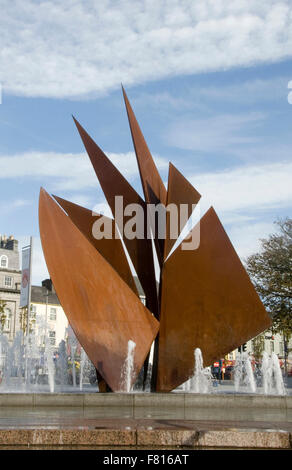
[{"label": "whole blue sky with white clouds behind the sculpture", "polygon": [[106,211],[72,114],[141,193],[121,82],[163,180],[172,161],[243,259],[291,216],[291,2],[0,3],[0,233],[33,235],[34,283],[40,186]]}]

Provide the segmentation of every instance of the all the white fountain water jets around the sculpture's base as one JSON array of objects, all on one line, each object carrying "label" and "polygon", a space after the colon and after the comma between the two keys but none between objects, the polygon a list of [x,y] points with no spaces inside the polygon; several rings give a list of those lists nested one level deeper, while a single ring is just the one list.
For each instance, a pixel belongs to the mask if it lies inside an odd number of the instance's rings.
[{"label": "all the white fountain water jets around the sculpture's base", "polygon": [[[68,338],[68,350],[65,341],[61,341],[57,351],[50,345],[48,337],[42,339],[44,344],[34,334],[24,336],[22,332],[18,332],[13,343],[9,344],[6,336],[0,335],[1,391],[19,393],[93,391],[92,385],[96,387],[95,369],[83,348],[80,348],[80,355],[76,355],[76,338],[72,336]],[[135,342],[129,340],[127,357],[121,373],[121,388],[127,393],[143,391],[141,377],[138,378],[134,387],[131,386],[135,348]],[[77,369],[76,363],[78,362],[79,368]],[[144,390],[148,393],[150,393],[150,370],[151,363],[147,374],[147,386]],[[264,352],[261,368],[256,371],[253,371],[248,353],[238,354],[234,369],[234,383],[232,381],[224,381],[224,383],[230,383],[229,393],[287,394],[279,359],[275,353],[270,357]],[[87,388],[84,388],[85,384]],[[88,389],[89,384],[92,385]],[[217,387],[214,388],[214,385]],[[185,393],[197,394],[225,393],[224,386],[218,385],[218,381],[212,377],[211,368],[204,368],[203,356],[199,348],[194,350],[193,375],[176,391],[181,390]]]}]

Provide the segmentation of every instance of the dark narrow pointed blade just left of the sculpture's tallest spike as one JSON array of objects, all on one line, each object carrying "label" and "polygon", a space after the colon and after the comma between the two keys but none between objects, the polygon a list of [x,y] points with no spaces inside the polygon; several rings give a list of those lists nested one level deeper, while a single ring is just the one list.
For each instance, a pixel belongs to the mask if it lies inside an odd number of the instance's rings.
[{"label": "dark narrow pointed blade just left of the sculpture's tallest spike", "polygon": [[[152,244],[151,240],[147,239],[147,211],[145,202],[112,164],[89,134],[83,129],[79,122],[76,119],[74,119],[74,121],[112,213],[115,214],[115,196],[123,196],[124,207],[135,203],[139,204],[140,207],[143,208],[145,229],[144,238],[129,239],[124,237],[123,240],[145,292],[147,307],[156,317],[158,317],[158,296]],[[127,217],[124,217],[124,219],[126,223]],[[120,223],[117,217],[115,220],[119,229],[123,233],[124,225]]]}]

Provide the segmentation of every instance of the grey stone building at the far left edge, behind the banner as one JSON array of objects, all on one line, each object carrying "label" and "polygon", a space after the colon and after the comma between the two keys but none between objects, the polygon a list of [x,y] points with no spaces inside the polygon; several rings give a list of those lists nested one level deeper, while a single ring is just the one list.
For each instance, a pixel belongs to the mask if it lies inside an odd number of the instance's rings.
[{"label": "grey stone building at the far left edge, behind the banner", "polygon": [[20,329],[20,286],[18,241],[12,235],[0,235],[0,300],[4,303],[0,328],[10,343]]}]

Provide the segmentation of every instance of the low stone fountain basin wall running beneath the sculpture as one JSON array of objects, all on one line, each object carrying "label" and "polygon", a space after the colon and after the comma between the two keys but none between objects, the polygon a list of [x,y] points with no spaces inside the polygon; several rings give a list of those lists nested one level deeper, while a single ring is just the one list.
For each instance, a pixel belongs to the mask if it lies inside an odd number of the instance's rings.
[{"label": "low stone fountain basin wall running beneath the sculpture", "polygon": [[291,442],[292,396],[0,394],[0,449],[289,449]]}]

